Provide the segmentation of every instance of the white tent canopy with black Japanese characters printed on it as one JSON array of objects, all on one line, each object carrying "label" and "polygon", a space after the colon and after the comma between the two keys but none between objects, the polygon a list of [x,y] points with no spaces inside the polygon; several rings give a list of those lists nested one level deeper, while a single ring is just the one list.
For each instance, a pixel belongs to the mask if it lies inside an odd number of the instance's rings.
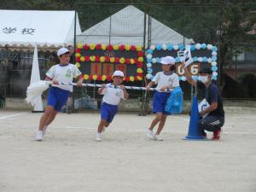
[{"label": "white tent canopy with black Japanese characters printed on it", "polygon": [[[0,45],[73,44],[75,11],[0,10]],[[76,34],[81,33],[78,15]]]}]

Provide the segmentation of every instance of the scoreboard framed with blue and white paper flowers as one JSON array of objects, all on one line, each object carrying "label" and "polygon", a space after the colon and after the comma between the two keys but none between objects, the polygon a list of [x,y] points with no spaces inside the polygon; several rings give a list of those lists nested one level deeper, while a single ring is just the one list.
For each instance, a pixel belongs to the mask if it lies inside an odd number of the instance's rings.
[{"label": "scoreboard framed with blue and white paper flowers", "polygon": [[[147,50],[147,79],[153,79],[155,73],[161,71],[160,60],[161,57],[170,55],[175,58],[176,61],[176,73],[180,80],[186,81],[186,77],[183,76],[183,70],[180,66],[180,58],[177,54],[178,51],[184,50],[183,44],[157,44],[151,45]],[[188,67],[189,72],[193,79],[200,79],[198,72],[203,65],[210,65],[212,67],[212,79],[218,77],[217,67],[217,55],[218,48],[212,44],[192,44],[190,45],[190,51],[193,58],[193,63]]]}]

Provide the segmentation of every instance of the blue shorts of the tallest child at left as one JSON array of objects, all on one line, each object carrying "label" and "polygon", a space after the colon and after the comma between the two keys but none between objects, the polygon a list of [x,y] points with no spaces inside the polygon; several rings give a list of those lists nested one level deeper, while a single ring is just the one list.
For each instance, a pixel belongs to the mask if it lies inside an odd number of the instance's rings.
[{"label": "blue shorts of the tallest child at left", "polygon": [[61,108],[66,104],[69,91],[61,90],[58,87],[51,87],[48,91],[47,105],[55,108],[56,111],[61,112]]}]

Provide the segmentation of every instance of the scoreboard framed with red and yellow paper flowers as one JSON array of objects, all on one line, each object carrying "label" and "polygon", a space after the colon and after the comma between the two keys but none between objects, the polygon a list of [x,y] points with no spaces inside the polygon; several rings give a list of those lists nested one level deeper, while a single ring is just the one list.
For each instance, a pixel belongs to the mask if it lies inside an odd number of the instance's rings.
[{"label": "scoreboard framed with red and yellow paper flowers", "polygon": [[77,44],[75,61],[85,80],[110,81],[114,70],[123,71],[126,82],[143,80],[142,46]]}]

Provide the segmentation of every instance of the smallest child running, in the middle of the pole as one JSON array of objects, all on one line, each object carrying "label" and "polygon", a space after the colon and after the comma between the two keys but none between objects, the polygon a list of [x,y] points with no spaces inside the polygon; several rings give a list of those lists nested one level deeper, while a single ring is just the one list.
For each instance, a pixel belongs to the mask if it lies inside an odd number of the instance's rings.
[{"label": "smallest child running, in the middle of the pole", "polygon": [[125,90],[125,86],[122,84],[124,79],[124,73],[121,71],[115,71],[112,76],[113,83],[102,84],[102,87],[98,90],[98,94],[104,95],[102,98],[101,108],[101,121],[98,125],[96,133],[96,141],[102,141],[102,131],[104,127],[113,121],[114,115],[118,112],[118,104],[120,99],[128,99],[128,93]]}]

